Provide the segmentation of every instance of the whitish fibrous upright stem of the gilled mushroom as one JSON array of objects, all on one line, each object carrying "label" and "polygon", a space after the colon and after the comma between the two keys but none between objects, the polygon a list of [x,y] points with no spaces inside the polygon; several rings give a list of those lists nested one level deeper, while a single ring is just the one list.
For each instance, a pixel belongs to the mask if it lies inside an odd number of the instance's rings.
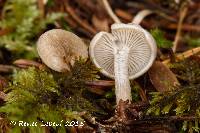
[{"label": "whitish fibrous upright stem of the gilled mushroom", "polygon": [[131,87],[128,74],[128,56],[129,48],[122,45],[116,45],[114,51],[114,73],[115,73],[115,94],[116,102],[132,100]]}]

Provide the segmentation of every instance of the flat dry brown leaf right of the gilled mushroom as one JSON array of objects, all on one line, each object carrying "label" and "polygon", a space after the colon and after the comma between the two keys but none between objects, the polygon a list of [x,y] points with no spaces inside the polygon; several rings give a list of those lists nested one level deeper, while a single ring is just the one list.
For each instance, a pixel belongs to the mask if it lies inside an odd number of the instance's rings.
[{"label": "flat dry brown leaf right of the gilled mushroom", "polygon": [[160,61],[155,61],[148,73],[152,84],[159,92],[170,91],[180,85],[175,74]]}]

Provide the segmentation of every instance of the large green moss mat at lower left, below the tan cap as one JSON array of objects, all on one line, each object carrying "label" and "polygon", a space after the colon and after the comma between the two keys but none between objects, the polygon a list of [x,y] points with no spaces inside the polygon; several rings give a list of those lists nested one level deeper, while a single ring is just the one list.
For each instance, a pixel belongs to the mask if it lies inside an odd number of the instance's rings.
[{"label": "large green moss mat at lower left, below the tan cap", "polygon": [[[97,111],[93,104],[84,97],[87,91],[85,81],[96,80],[98,70],[91,62],[80,59],[76,61],[71,72],[51,74],[44,70],[28,68],[13,74],[13,81],[5,89],[6,103],[0,107],[9,121],[28,123],[45,122],[63,123],[65,121],[83,121],[78,112]],[[62,126],[51,126],[54,131],[64,131]],[[32,133],[44,132],[43,127],[28,126]],[[21,132],[27,127],[13,126],[11,132]]]}]

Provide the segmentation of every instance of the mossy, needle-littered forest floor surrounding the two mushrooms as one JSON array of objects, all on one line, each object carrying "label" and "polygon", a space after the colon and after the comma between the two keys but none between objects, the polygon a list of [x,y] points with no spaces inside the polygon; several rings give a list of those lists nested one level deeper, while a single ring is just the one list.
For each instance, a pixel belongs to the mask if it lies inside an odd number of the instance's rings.
[{"label": "mossy, needle-littered forest floor surrounding the two mushrooms", "polygon": [[[115,81],[91,58],[57,72],[38,55],[48,30],[89,46],[119,22],[139,24],[157,44],[150,69],[130,80],[131,102],[116,103]],[[0,133],[192,133],[199,118],[199,0],[0,0]]]}]

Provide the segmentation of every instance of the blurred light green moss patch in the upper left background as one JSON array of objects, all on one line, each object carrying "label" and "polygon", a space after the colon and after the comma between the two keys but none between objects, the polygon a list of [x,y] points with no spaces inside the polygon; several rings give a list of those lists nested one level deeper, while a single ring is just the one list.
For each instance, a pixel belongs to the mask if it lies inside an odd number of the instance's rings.
[{"label": "blurred light green moss patch in the upper left background", "polygon": [[0,37],[0,47],[6,47],[17,56],[33,58],[37,56],[35,38],[63,15],[51,13],[41,18],[37,0],[7,0],[2,16],[0,28],[11,32]]}]

